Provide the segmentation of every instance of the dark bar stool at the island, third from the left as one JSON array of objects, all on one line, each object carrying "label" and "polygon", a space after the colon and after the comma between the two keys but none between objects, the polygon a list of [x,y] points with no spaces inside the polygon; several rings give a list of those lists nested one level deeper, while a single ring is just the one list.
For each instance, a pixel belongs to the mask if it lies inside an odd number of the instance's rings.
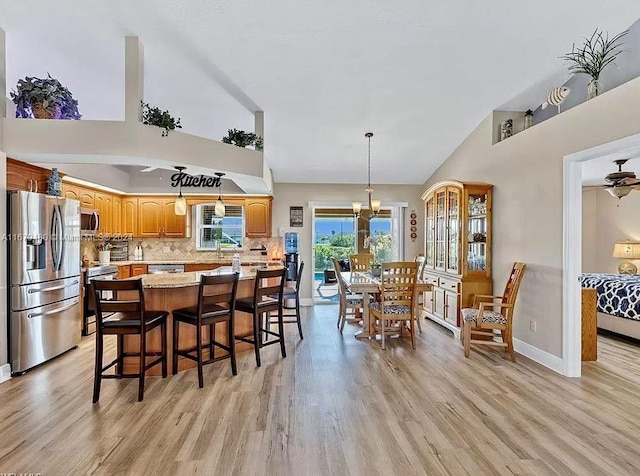
[{"label": "dark bar stool at the island, third from the left", "polygon": [[[253,316],[253,333],[236,335],[236,339],[253,344],[256,354],[256,366],[258,367],[260,367],[260,349],[264,346],[280,343],[282,357],[287,356],[284,348],[284,323],[282,322],[282,297],[286,271],[286,268],[275,270],[258,269],[256,271],[253,297],[236,299],[236,310]],[[272,311],[278,311],[277,333],[271,329],[262,328],[262,315]],[[262,333],[277,337],[277,339],[265,342],[262,340]]]}]

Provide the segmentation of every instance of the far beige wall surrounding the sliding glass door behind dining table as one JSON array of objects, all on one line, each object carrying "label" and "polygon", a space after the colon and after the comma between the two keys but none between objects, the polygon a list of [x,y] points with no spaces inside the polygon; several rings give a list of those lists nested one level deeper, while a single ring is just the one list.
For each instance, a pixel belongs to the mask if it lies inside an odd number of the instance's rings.
[{"label": "far beige wall surrounding the sliding glass door behind dining table", "polygon": [[[301,249],[300,259],[305,262],[306,272],[302,281],[300,296],[302,298],[312,297],[312,269],[311,269],[311,248],[313,236],[312,213],[308,206],[313,201],[334,201],[351,203],[352,201],[364,201],[366,185],[363,184],[274,184],[273,199],[273,236],[278,236],[279,228],[284,231],[297,231],[300,233]],[[424,223],[423,202],[420,195],[424,192],[424,188],[419,185],[373,185],[375,189],[374,196],[385,202],[408,202],[406,220],[409,219],[408,214],[411,210],[415,210],[418,214],[418,223]],[[291,228],[289,226],[289,207],[304,207],[302,228]],[[405,258],[413,259],[416,254],[421,252],[423,248],[423,230],[418,227],[418,237],[415,241],[411,241],[409,237],[409,224],[405,224]]]}]

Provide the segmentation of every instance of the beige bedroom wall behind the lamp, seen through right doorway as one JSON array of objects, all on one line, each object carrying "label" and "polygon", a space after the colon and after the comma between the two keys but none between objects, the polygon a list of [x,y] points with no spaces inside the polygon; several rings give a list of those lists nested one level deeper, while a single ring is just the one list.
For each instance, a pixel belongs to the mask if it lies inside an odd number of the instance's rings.
[{"label": "beige bedroom wall behind the lamp, seen through right doorway", "polygon": [[[585,204],[593,210],[585,212]],[[582,266],[587,273],[617,273],[621,260],[612,258],[617,241],[640,241],[640,192],[631,192],[618,200],[605,190],[582,193],[583,233],[590,230],[593,238],[582,239]],[[640,267],[640,260],[635,262]]]}]

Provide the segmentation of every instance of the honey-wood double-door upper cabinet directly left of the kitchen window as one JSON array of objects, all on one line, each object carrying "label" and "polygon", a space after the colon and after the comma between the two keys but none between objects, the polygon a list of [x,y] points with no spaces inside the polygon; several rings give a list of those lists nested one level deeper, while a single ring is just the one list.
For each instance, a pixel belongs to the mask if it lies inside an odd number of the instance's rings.
[{"label": "honey-wood double-door upper cabinet directly left of the kitchen window", "polygon": [[186,215],[175,214],[174,198],[138,198],[138,232],[146,238],[184,238]]}]

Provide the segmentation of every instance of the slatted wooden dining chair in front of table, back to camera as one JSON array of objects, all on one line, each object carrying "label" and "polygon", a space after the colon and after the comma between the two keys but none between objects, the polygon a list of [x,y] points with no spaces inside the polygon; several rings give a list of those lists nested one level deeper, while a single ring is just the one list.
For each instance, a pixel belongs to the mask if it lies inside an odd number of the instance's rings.
[{"label": "slatted wooden dining chair in front of table, back to camera", "polygon": [[369,313],[376,320],[376,333],[379,331],[382,336],[383,349],[386,349],[387,333],[402,335],[407,323],[411,347],[416,348],[414,299],[417,274],[418,264],[415,261],[382,263],[380,302],[371,303]]}]

